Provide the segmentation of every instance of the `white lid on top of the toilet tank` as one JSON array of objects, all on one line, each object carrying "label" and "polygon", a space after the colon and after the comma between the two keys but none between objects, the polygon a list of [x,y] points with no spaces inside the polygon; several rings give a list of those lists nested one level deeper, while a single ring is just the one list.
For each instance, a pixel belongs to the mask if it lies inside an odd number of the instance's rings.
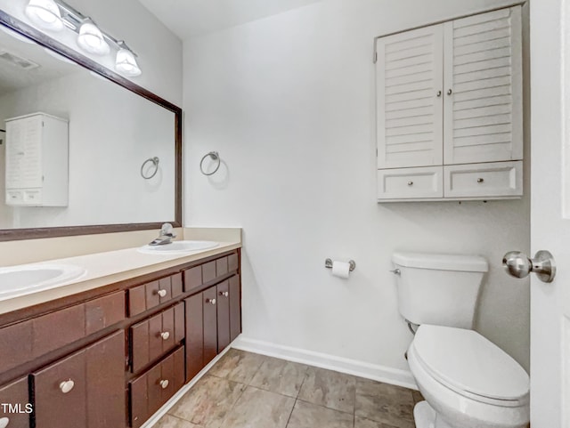
[{"label": "white lid on top of the toilet tank", "polygon": [[394,264],[419,269],[438,271],[486,272],[489,264],[480,255],[468,254],[428,254],[428,253],[395,253]]}]

